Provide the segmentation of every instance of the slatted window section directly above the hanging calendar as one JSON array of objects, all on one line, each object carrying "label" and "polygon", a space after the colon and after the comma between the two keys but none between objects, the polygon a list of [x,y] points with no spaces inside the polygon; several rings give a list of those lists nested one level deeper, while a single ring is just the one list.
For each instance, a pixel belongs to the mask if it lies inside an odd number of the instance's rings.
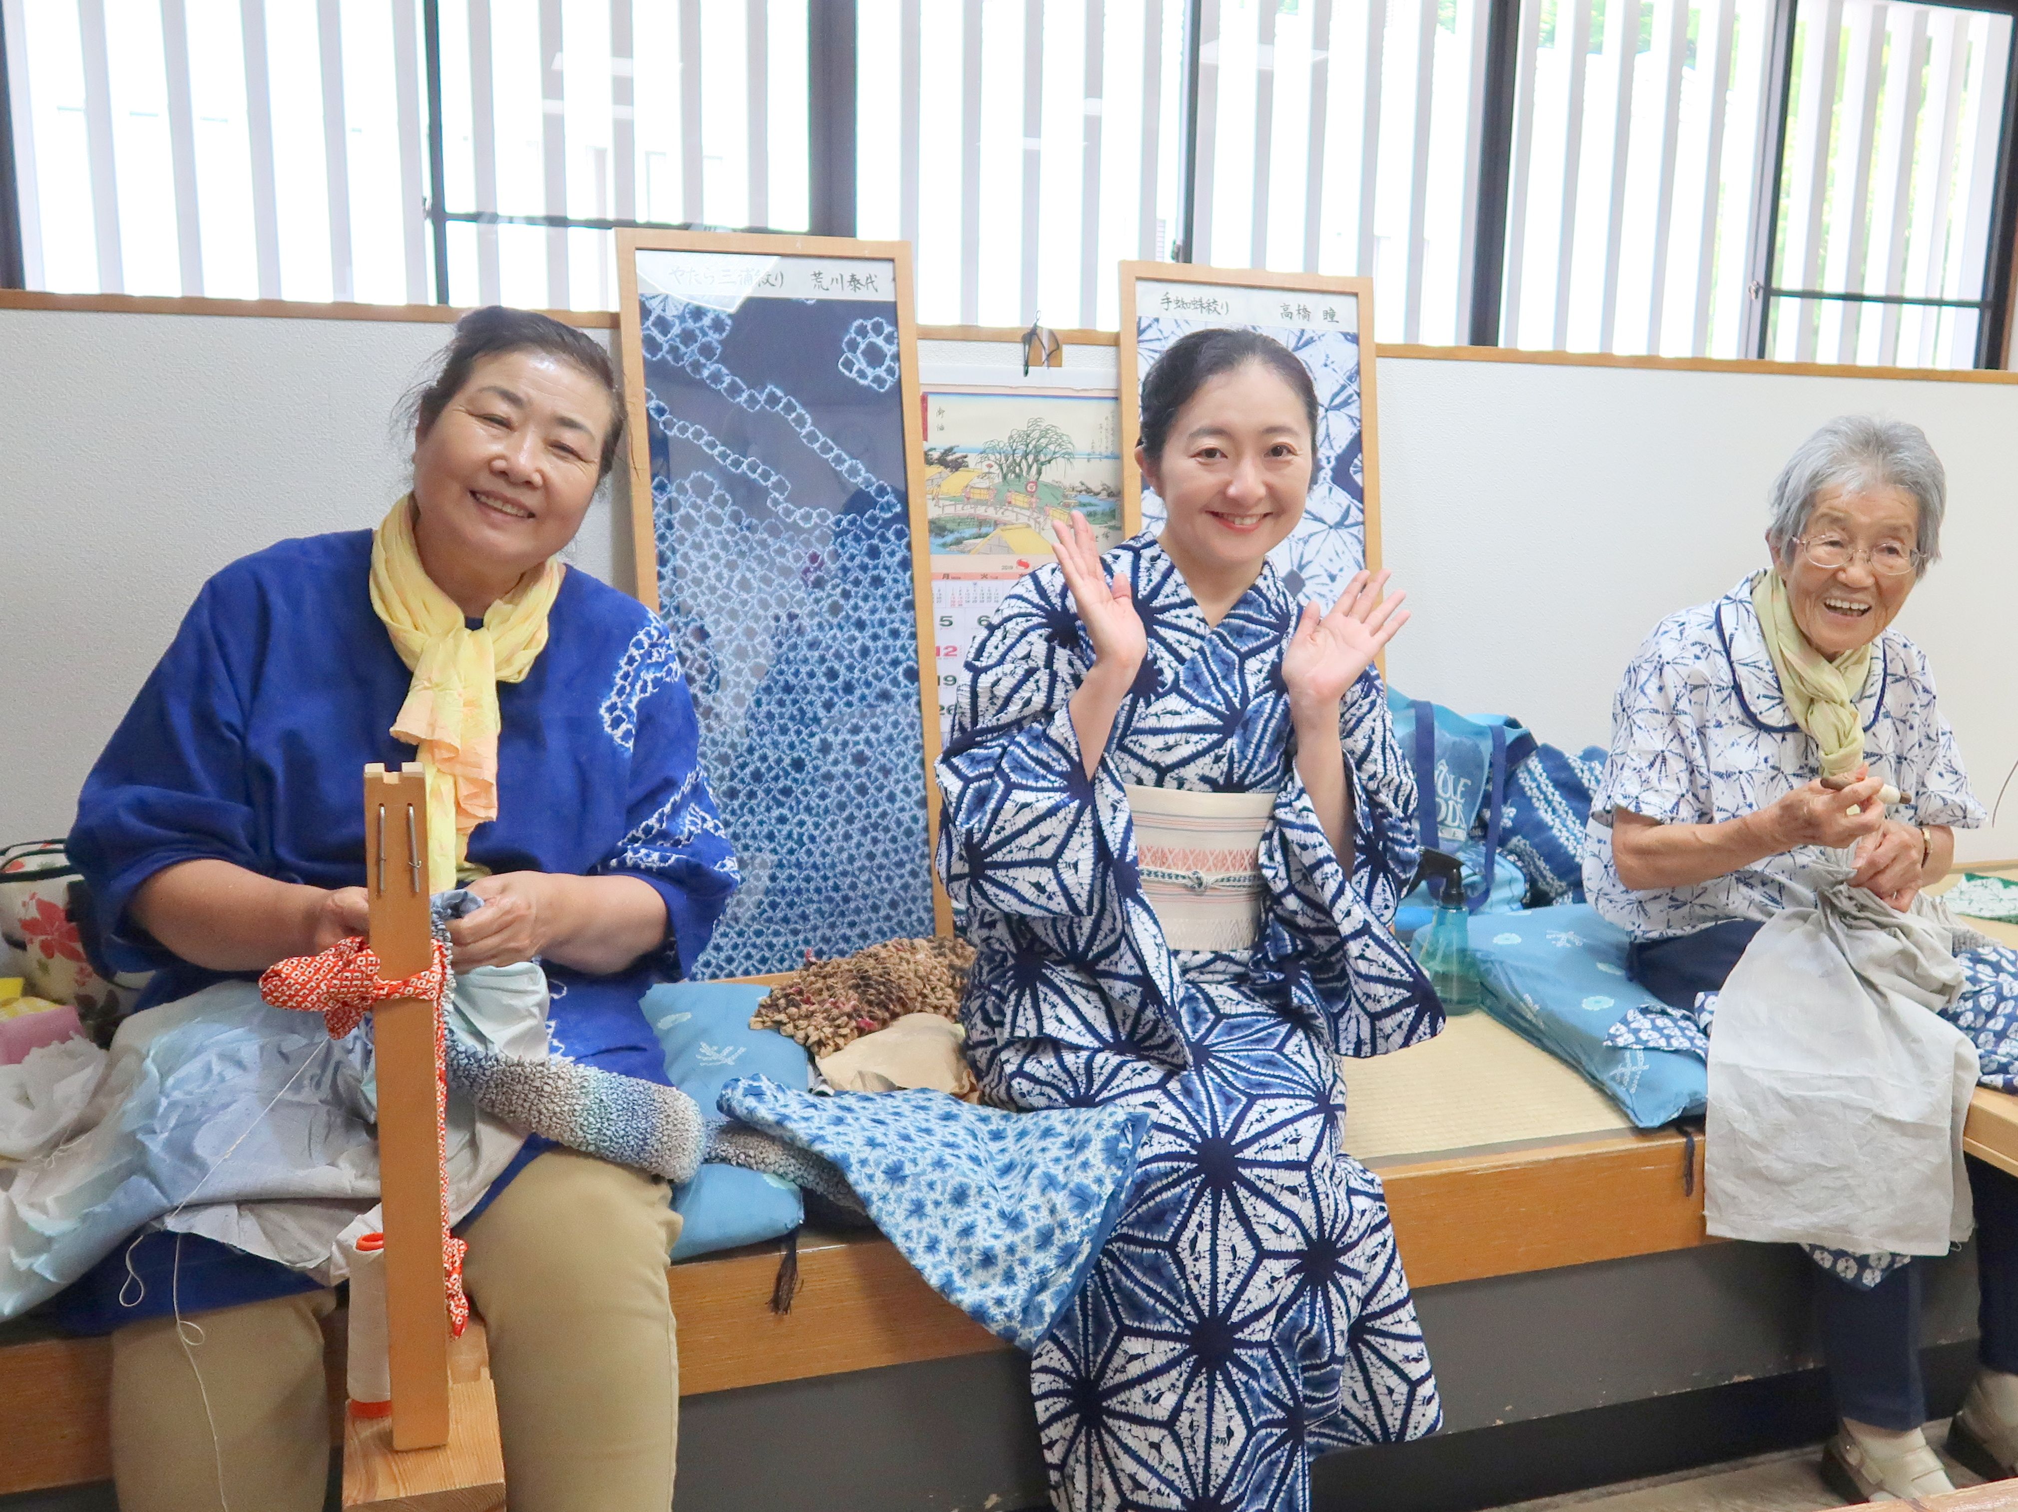
[{"label": "slatted window section directly above the hanging calendar", "polygon": [[1104,325],[1183,240],[1189,0],[858,0],[860,234],[918,319]]}]

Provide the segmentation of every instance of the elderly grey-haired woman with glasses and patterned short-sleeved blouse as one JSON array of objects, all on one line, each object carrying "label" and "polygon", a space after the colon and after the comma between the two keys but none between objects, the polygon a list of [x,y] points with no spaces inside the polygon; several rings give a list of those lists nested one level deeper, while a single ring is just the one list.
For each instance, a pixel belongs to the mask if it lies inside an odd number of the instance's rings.
[{"label": "elderly grey-haired woman with glasses and patterned short-sleeved blouse", "polygon": [[[1816,904],[1830,850],[1855,846],[1851,884],[1907,908],[1947,872],[1953,828],[1984,824],[1927,656],[1891,628],[1939,555],[1945,501],[1917,426],[1828,422],[1774,484],[1768,567],[1657,624],[1627,668],[1584,886],[1635,937],[1633,975],[1683,1013],[1768,919]],[[1887,785],[1899,803],[1879,797]],[[1968,987],[1945,1017],[1976,1042],[1982,1080],[2014,1088],[2018,953],[1976,949],[1957,965]],[[1949,1451],[2004,1478],[2018,1468],[2018,1179],[1974,1157],[1968,1171],[1982,1369]],[[1842,1417],[1830,1478],[1865,1498],[1949,1490],[1921,1433],[1923,1266],[1810,1254]]]}]

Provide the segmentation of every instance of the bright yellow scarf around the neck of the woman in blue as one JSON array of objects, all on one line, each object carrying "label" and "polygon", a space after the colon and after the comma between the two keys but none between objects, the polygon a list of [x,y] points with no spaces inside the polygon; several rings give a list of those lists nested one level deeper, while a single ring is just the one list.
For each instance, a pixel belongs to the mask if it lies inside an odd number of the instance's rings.
[{"label": "bright yellow scarf around the neck of the woman in blue", "polygon": [[456,886],[470,830],[498,816],[498,682],[521,682],[547,648],[547,612],[565,573],[549,557],[470,630],[420,565],[412,495],[371,533],[371,608],[414,672],[391,733],[420,747],[428,773],[430,892]]}]

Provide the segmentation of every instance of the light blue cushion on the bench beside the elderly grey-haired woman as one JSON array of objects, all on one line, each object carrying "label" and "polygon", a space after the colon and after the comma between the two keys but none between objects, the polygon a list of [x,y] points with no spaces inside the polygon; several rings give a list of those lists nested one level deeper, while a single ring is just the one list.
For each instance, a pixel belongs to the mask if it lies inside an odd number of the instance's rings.
[{"label": "light blue cushion on the bench beside the elderly grey-haired woman", "polygon": [[1582,902],[1471,916],[1485,1011],[1576,1066],[1635,1126],[1659,1128],[1701,1112],[1709,1078],[1695,1056],[1604,1044],[1627,1009],[1665,1011],[1627,975],[1627,945],[1622,929]]}]

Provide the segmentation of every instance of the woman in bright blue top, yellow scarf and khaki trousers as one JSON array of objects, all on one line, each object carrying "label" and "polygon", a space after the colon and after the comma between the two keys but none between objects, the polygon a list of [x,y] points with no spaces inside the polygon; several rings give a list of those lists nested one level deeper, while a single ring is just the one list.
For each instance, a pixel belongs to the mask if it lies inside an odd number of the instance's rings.
[{"label": "woman in bright blue top, yellow scarf and khaki trousers", "polygon": [[[484,898],[450,925],[456,967],[539,959],[567,1056],[664,1084],[638,999],[706,943],[735,864],[666,630],[555,555],[622,414],[591,339],[476,311],[418,398],[414,491],[377,531],[283,541],[204,585],[71,834],[113,961],[155,971],[143,1007],[363,933],[361,773],[426,739],[452,775],[438,840]],[[666,1183],[529,1141],[486,1203],[464,1229],[466,1282],[515,1512],[664,1512]],[[127,1264],[143,1288],[121,1292]],[[176,1286],[200,1314],[188,1348],[163,1316]],[[331,1292],[165,1233],[71,1292],[73,1318],[115,1330],[127,1512],[323,1506]]]}]

